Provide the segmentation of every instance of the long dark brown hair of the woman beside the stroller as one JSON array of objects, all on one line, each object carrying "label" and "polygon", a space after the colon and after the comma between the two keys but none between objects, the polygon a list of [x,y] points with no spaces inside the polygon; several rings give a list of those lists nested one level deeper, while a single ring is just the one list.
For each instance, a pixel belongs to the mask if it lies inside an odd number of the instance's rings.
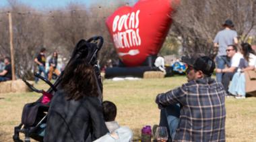
[{"label": "long dark brown hair of the woman beside the stroller", "polygon": [[62,79],[61,86],[67,92],[67,100],[79,100],[84,96],[98,96],[94,67],[82,59],[70,62]]}]

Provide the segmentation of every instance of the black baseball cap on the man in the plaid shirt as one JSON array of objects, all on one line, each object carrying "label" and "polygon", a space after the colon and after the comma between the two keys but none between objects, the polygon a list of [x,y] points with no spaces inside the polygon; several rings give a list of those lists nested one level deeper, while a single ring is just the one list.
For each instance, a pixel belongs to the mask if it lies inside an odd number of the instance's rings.
[{"label": "black baseball cap on the man in the plaid shirt", "polygon": [[214,60],[208,56],[201,56],[199,58],[182,57],[181,61],[192,66],[195,70],[201,70],[207,76],[212,76],[216,67]]}]

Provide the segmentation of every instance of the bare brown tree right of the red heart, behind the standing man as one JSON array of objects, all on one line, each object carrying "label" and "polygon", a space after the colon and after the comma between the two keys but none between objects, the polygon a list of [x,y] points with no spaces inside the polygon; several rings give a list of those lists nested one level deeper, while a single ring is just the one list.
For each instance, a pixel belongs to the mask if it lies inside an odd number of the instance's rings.
[{"label": "bare brown tree right of the red heart, behind the standing man", "polygon": [[174,14],[172,36],[182,37],[185,55],[203,53],[214,57],[213,40],[226,19],[234,21],[241,42],[246,41],[256,25],[256,1],[181,1]]}]

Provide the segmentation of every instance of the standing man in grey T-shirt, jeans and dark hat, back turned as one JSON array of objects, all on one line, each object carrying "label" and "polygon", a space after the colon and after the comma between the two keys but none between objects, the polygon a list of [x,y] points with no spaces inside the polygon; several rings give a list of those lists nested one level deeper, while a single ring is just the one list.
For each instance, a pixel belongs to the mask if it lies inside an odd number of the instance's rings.
[{"label": "standing man in grey T-shirt, jeans and dark hat, back turned", "polygon": [[[237,32],[232,30],[234,23],[230,19],[227,19],[223,27],[224,29],[219,31],[214,38],[214,50],[218,49],[216,65],[219,69],[224,69],[226,65],[229,66],[229,58],[226,56],[228,45],[238,44]],[[216,80],[222,82],[222,72],[216,73]]]}]

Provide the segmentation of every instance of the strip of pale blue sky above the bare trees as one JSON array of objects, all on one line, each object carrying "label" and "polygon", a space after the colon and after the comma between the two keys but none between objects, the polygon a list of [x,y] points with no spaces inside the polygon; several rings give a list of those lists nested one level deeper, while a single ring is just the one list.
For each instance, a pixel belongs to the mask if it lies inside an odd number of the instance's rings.
[{"label": "strip of pale blue sky above the bare trees", "polygon": [[[30,5],[36,9],[48,8],[58,8],[65,7],[69,3],[84,3],[86,5],[93,5],[96,2],[104,1],[104,4],[113,4],[115,1],[127,1],[130,3],[135,3],[137,0],[18,0],[21,3]],[[0,0],[0,7],[7,6],[7,0]]]}]

